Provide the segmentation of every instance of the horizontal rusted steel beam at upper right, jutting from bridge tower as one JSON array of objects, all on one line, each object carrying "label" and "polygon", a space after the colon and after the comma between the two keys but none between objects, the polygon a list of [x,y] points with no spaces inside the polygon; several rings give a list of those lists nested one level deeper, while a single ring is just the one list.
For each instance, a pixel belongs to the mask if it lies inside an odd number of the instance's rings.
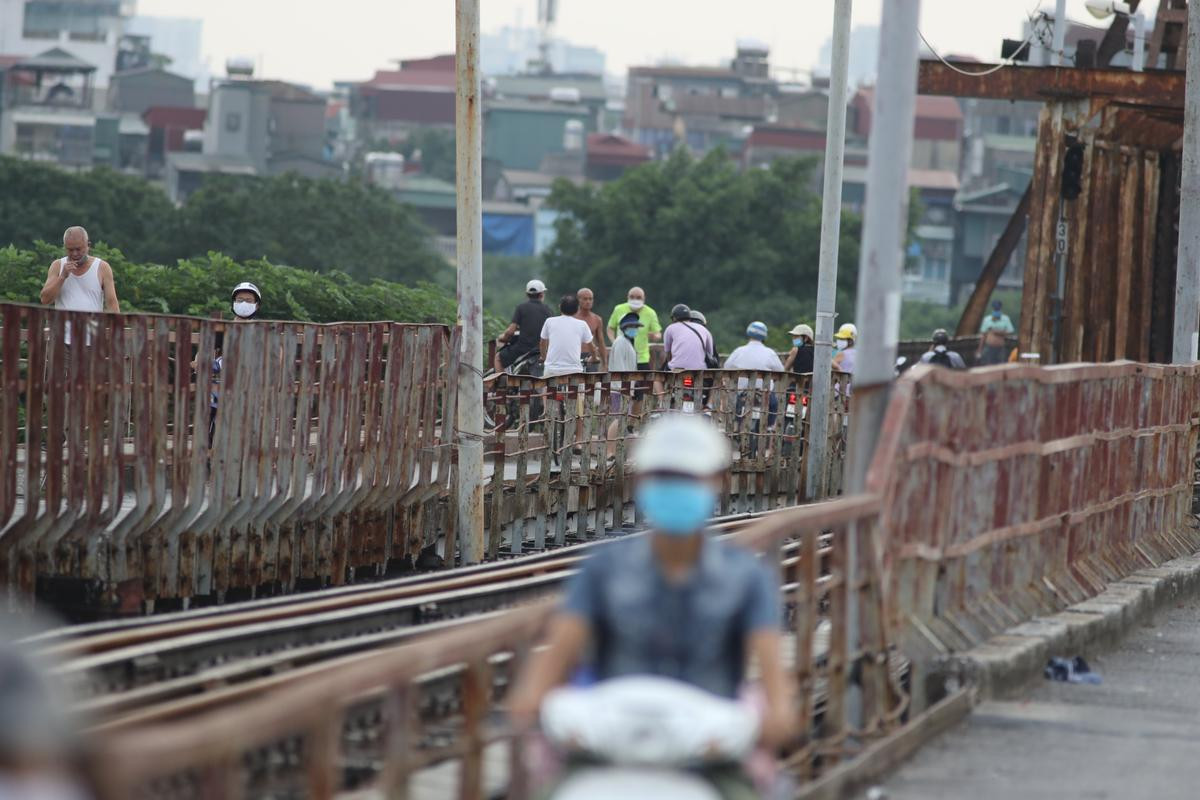
[{"label": "horizontal rusted steel beam at upper right, jutting from bridge tower", "polygon": [[[982,72],[989,66],[962,64],[961,68]],[[1183,73],[1013,66],[986,77],[971,77],[955,72],[941,61],[922,61],[917,91],[922,95],[1014,101],[1104,97],[1130,106],[1183,108]]]}]

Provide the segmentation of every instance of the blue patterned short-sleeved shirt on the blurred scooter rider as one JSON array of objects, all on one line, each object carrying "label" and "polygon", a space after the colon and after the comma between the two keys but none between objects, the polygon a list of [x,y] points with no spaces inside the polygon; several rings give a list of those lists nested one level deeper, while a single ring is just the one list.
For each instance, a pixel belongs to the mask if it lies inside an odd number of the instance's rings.
[{"label": "blue patterned short-sleeved shirt on the blurred scooter rider", "polygon": [[678,583],[658,569],[649,536],[604,546],[568,582],[563,609],[590,625],[598,679],[659,675],[722,697],[742,684],[746,637],[781,626],[767,567],[708,537],[696,569]]}]

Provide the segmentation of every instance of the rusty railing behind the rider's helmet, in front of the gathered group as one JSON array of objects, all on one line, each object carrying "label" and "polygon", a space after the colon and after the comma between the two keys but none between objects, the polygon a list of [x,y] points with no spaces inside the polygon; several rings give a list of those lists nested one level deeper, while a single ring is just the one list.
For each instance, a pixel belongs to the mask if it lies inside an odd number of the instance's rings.
[{"label": "rusty railing behind the rider's helmet, in front of the gathered group", "polygon": [[[830,493],[841,491],[850,375],[834,374]],[[488,385],[493,437],[488,553],[521,553],[640,525],[629,462],[642,427],[666,411],[707,414],[734,461],[720,513],[798,505],[805,495],[810,375],[697,371],[500,375]]]}]

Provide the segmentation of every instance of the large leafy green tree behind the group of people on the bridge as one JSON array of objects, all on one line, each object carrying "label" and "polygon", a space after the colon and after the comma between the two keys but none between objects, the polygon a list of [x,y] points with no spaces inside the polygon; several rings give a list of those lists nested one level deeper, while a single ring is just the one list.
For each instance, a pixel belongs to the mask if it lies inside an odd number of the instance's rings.
[{"label": "large leafy green tree behind the group of people on the bridge", "polygon": [[[680,150],[602,187],[559,181],[550,204],[564,213],[545,279],[589,285],[602,315],[635,284],[662,321],[674,303],[688,303],[708,317],[722,353],[754,319],[782,347],[816,308],[821,199],[811,170],[809,160],[785,160],[743,173],[721,151],[697,161]],[[853,314],[860,228],[842,215],[842,320]]]}]

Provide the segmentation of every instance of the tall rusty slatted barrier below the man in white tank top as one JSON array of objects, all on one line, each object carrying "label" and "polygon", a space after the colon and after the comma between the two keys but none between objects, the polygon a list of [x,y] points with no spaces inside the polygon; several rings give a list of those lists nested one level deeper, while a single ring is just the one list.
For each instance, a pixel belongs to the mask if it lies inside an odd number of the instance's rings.
[{"label": "tall rusty slatted barrier below the man in white tank top", "polygon": [[438,531],[452,548],[440,500],[456,338],[437,325],[0,306],[10,600],[79,579],[96,607],[137,610],[341,583],[415,558]]}]

